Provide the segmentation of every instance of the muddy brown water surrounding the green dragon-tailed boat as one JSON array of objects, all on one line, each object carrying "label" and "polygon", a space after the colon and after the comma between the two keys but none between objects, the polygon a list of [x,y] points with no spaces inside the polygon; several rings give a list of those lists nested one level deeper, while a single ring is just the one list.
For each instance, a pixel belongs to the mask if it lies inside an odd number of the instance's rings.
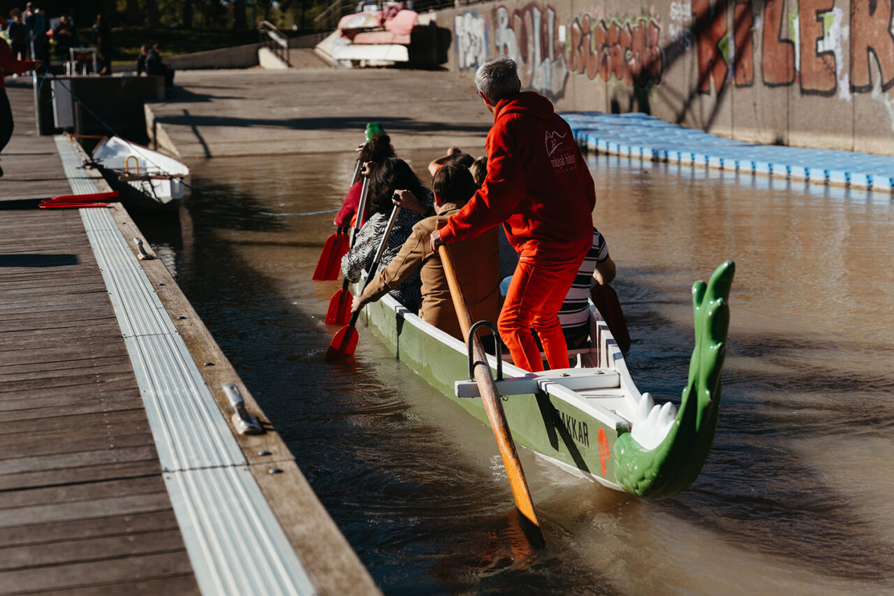
[{"label": "muddy brown water surrounding the green dragon-tailed boat", "polygon": [[[434,152],[409,158],[420,174]],[[312,282],[353,156],[193,161],[179,217],[139,220],[386,593],[894,590],[894,201],[589,158],[641,390],[679,402],[690,288],[736,260],[720,425],[690,490],[646,502],[527,450],[548,549],[514,554],[493,435],[359,328],[323,355]],[[427,180],[427,178],[423,178]]]}]

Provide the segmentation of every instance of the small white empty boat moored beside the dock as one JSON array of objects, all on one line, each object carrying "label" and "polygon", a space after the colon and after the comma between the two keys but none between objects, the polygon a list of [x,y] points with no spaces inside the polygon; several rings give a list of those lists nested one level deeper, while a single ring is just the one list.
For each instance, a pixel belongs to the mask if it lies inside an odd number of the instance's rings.
[{"label": "small white empty boat moored beside the dock", "polygon": [[129,209],[176,211],[189,196],[190,168],[182,162],[121,137],[105,137],[93,149],[93,164],[121,193]]}]

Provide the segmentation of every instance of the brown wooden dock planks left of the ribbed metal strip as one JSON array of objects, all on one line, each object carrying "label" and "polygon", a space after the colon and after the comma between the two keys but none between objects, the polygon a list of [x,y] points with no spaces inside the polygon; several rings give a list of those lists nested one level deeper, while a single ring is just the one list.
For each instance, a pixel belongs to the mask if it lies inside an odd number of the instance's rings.
[{"label": "brown wooden dock planks left of the ribbed metal strip", "polygon": [[198,593],[78,210],[22,201],[71,193],[54,140],[37,134],[30,83],[7,93],[0,593]]}]

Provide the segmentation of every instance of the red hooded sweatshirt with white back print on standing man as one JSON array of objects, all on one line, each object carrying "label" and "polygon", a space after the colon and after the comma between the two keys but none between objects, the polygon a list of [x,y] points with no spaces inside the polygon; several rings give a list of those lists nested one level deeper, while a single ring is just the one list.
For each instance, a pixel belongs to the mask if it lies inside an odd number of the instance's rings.
[{"label": "red hooded sweatshirt with white back print on standing man", "polygon": [[443,243],[503,223],[512,247],[560,256],[593,237],[596,192],[568,123],[526,91],[501,99],[487,134],[487,177],[441,229]]}]

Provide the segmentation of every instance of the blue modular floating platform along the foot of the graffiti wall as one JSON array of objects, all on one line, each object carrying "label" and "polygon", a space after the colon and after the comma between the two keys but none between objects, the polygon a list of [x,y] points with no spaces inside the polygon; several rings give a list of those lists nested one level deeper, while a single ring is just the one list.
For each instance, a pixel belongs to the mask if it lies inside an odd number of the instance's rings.
[{"label": "blue modular floating platform along the foot of the graffiti wall", "polygon": [[755,145],[640,113],[560,115],[579,145],[600,153],[894,192],[894,158],[836,149]]}]

